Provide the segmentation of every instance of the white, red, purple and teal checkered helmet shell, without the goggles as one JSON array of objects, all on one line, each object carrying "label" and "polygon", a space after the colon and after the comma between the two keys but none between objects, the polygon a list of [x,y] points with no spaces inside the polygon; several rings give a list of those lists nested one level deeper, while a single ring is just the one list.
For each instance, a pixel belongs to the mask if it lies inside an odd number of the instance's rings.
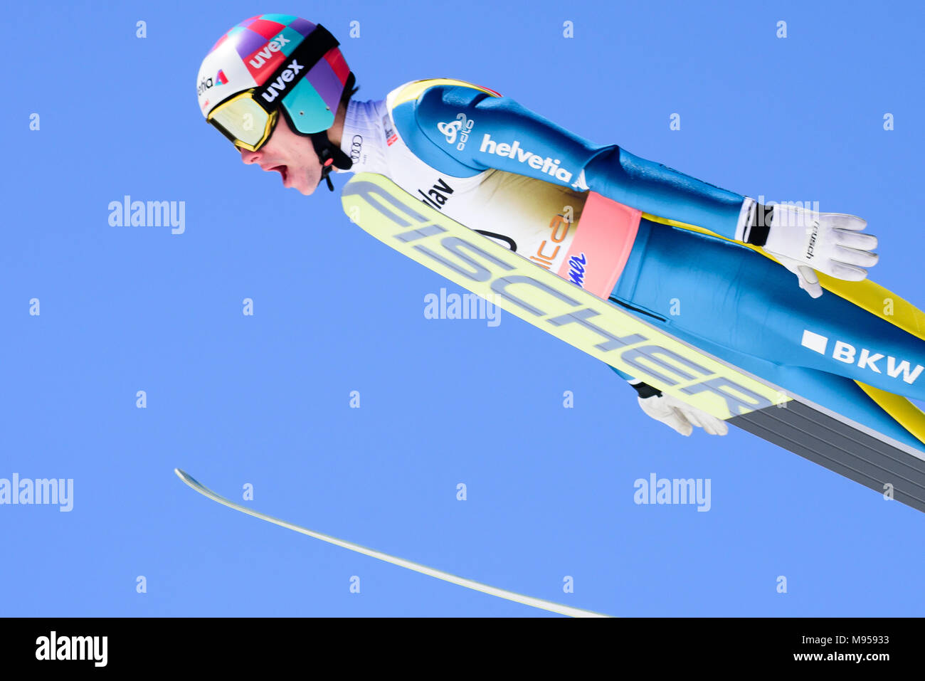
[{"label": "white, red, purple and teal checkered helmet shell, without the goggles", "polygon": [[[245,19],[219,38],[203,59],[196,80],[203,116],[229,97],[264,86],[296,48],[314,40],[310,36],[316,28],[320,28],[314,33],[318,40],[322,34],[332,40],[323,27],[287,14]],[[301,80],[294,86],[285,83],[280,99],[272,102],[264,97],[269,108],[281,106],[290,123],[303,134],[327,130],[334,124],[340,97],[352,84],[350,68],[337,42],[332,40],[332,44],[312,68],[299,74]],[[268,92],[274,93],[273,88]]]}]

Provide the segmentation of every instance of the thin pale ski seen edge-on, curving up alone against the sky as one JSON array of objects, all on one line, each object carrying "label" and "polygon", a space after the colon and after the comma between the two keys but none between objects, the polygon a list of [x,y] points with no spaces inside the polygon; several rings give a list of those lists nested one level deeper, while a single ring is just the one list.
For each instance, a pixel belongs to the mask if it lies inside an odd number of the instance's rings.
[{"label": "thin pale ski seen edge-on, curving up alone against the sky", "polygon": [[189,473],[181,471],[179,468],[174,468],[174,473],[177,474],[179,479],[189,485],[192,489],[195,489],[197,492],[202,494],[204,497],[208,497],[212,501],[217,501],[224,506],[228,506],[228,508],[233,508],[235,511],[240,511],[242,514],[253,515],[253,517],[265,520],[267,523],[273,523],[274,525],[278,525],[280,527],[286,527],[287,529],[290,529],[294,532],[299,532],[303,535],[307,535],[308,537],[314,537],[314,539],[326,541],[328,544],[334,544],[335,546],[339,546],[343,549],[349,549],[350,551],[363,553],[366,556],[376,558],[386,563],[392,563],[393,565],[398,565],[399,567],[404,567],[408,570],[413,570],[414,572],[419,572],[422,575],[437,577],[438,579],[442,579],[445,582],[450,582],[450,584],[471,588],[475,591],[487,593],[489,596],[496,596],[499,599],[505,599],[506,601],[513,601],[515,603],[529,605],[532,608],[547,610],[550,613],[564,614],[570,617],[610,616],[601,613],[594,613],[589,610],[582,610],[581,608],[573,608],[571,605],[562,605],[561,603],[555,603],[553,601],[544,601],[543,599],[537,599],[533,596],[524,596],[524,594],[514,593],[513,591],[508,591],[503,588],[491,587],[487,584],[476,582],[474,579],[467,579],[466,577],[451,575],[448,572],[443,572],[442,570],[428,567],[427,565],[422,565],[421,563],[414,563],[413,561],[408,561],[404,558],[399,558],[398,556],[389,555],[388,553],[384,553],[382,551],[376,551],[375,549],[369,549],[364,546],[360,546],[359,544],[353,544],[350,541],[345,541],[344,539],[338,539],[336,537],[331,537],[330,535],[322,534],[321,532],[315,532],[314,530],[308,529],[307,527],[288,523],[285,520],[280,520],[279,518],[275,518],[272,515],[262,514],[259,511],[254,511],[253,509],[248,508],[247,506],[242,506],[240,503],[230,501],[222,495],[217,494],[211,489],[208,489]]}]

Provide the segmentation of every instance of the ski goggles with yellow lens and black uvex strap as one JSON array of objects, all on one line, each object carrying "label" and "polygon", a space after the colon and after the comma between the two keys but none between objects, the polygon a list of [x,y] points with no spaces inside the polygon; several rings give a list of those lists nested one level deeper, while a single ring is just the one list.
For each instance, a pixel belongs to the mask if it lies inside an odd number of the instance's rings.
[{"label": "ski goggles with yellow lens and black uvex strap", "polygon": [[[309,80],[310,89],[314,88],[313,92],[318,90],[327,92],[330,89],[330,84],[327,82],[324,83],[327,87],[314,82],[309,71],[324,58],[329,50],[338,45],[337,39],[324,26],[318,24],[314,27],[314,31],[309,33],[290,55],[286,56],[263,85],[257,85],[230,97],[212,109],[205,120],[225,135],[236,147],[251,152],[257,151],[273,134],[279,120],[279,107],[283,99],[297,91],[302,79]],[[320,74],[318,78],[323,79],[324,74]],[[342,85],[340,88],[342,89]],[[339,92],[338,90],[338,95]],[[298,94],[294,96],[298,103]],[[318,95],[315,95],[314,101],[316,102],[317,99]],[[336,107],[336,103],[334,105]],[[327,105],[327,116],[333,116],[330,113],[330,106]]]}]

